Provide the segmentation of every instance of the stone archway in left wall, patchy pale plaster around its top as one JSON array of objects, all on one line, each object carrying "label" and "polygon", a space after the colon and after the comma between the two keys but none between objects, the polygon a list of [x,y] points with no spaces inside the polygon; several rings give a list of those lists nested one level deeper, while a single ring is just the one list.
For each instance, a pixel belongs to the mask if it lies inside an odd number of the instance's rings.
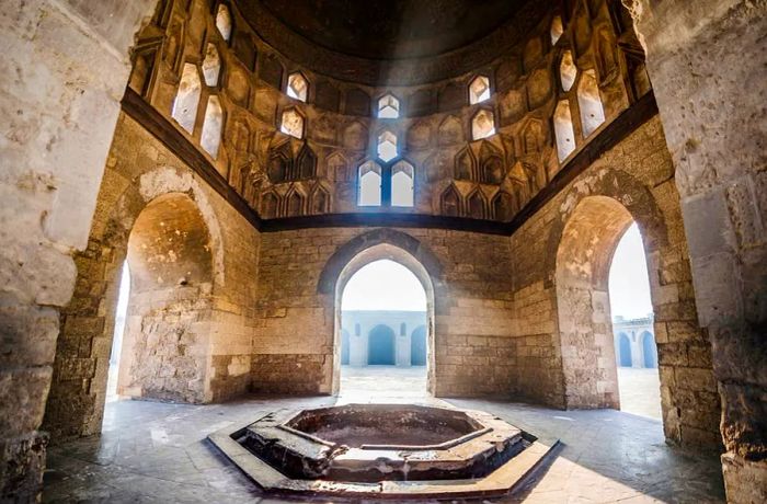
[{"label": "stone archway in left wall, patchy pale plaster around its top", "polygon": [[[171,207],[172,210],[169,209]],[[163,209],[165,210],[163,211]],[[202,262],[207,264],[205,268],[195,271],[190,267],[182,268],[183,272],[179,270],[174,278],[163,278],[163,284],[165,279],[169,285],[174,283],[173,287],[180,293],[199,290],[197,300],[191,300],[187,296],[179,296],[179,293],[169,294],[169,296],[179,298],[178,309],[174,311],[179,320],[182,318],[182,311],[188,313],[201,311],[202,305],[211,302],[214,288],[224,283],[224,257],[218,218],[205,191],[190,173],[163,168],[144,173],[134,184],[127,184],[122,193],[114,194],[111,190],[102,188],[99,197],[99,210],[91,227],[88,249],[76,256],[78,277],[75,294],[69,305],[62,309],[62,330],[57,341],[54,378],[44,417],[44,427],[57,442],[101,432],[121,272],[126,257],[131,263],[145,263],[146,275],[144,278],[140,274],[141,267],[131,264],[134,266],[131,267],[131,284],[134,284],[131,290],[137,293],[141,289],[148,289],[152,282],[157,284],[157,277],[153,280],[151,278],[152,267],[149,267],[148,257],[142,257],[140,252],[145,245],[150,245],[152,240],[159,236],[148,232],[153,227],[152,222],[154,226],[159,226],[160,221],[170,224],[175,218],[174,214],[179,213],[188,216],[193,220],[192,227],[184,230],[179,229],[179,234],[173,233],[173,236],[188,239],[190,241],[184,240],[181,243],[184,245],[194,242],[193,249],[196,252],[193,255],[197,255]],[[203,236],[205,238],[202,236],[191,237],[192,228],[204,229]],[[137,234],[133,232],[135,229],[139,230]],[[129,252],[131,248],[134,253]],[[130,255],[133,255],[133,261]],[[161,265],[164,270],[178,260],[176,252],[170,254],[170,250],[167,250],[164,254],[157,254],[151,263]],[[184,278],[186,279],[184,280]],[[194,278],[194,282],[191,283],[191,278]],[[184,282],[186,285],[181,285]],[[154,296],[158,301],[162,298],[159,291],[150,293],[146,297],[152,298]],[[168,296],[165,298],[169,299]],[[179,303],[185,303],[185,306],[182,307]],[[201,306],[194,308],[195,303]],[[138,305],[136,302],[133,305],[133,308],[128,308],[129,319],[134,316],[138,317],[138,312],[131,313]],[[173,311],[169,299],[165,308]],[[156,314],[160,312],[157,308],[159,308],[157,303],[151,308]],[[207,312],[209,311],[207,310]],[[202,312],[206,311],[202,310]],[[147,311],[146,314],[149,312]],[[133,336],[141,333],[142,320],[140,317],[135,320],[134,323],[138,324],[135,328],[136,331],[131,330],[130,321],[127,324],[123,344],[124,348],[129,348],[124,353],[127,357],[133,355],[135,343]],[[153,320],[152,324],[150,324],[153,327],[152,331],[158,331],[152,337],[164,331],[164,337],[169,341],[175,337],[176,343],[182,345],[185,344],[183,341],[190,341],[191,333],[179,334],[178,328],[171,328],[162,320]],[[146,342],[148,341],[146,336],[147,334],[140,336],[139,340],[142,339]],[[88,353],[82,352],[81,348],[88,348]],[[161,389],[150,387],[148,380],[151,381],[151,374],[141,375],[139,373],[141,377],[136,381],[136,378],[139,377],[136,373],[129,371],[129,359],[121,363],[118,389],[128,396],[156,397],[185,402],[210,401],[214,398],[208,369],[201,370],[199,368],[203,365],[199,352],[207,352],[204,348],[209,348],[209,345],[202,341],[191,344],[190,348],[184,348],[184,353],[188,352],[188,355],[194,355],[192,359],[201,360],[194,366],[186,366],[188,373],[185,375],[187,375],[188,381],[194,383],[185,392],[179,390],[173,392],[168,388],[163,392]],[[205,358],[207,359],[207,356]],[[158,366],[161,367],[161,365]],[[158,370],[158,373],[160,371]],[[153,392],[138,392],[139,389],[136,385],[138,382],[152,388]]]}]

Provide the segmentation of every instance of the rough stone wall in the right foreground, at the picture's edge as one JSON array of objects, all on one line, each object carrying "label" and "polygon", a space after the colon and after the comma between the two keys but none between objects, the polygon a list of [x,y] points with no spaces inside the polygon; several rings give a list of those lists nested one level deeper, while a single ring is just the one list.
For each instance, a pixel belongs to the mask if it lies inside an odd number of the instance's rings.
[{"label": "rough stone wall in the right foreground, at the picture's edge", "polygon": [[767,500],[767,2],[627,1],[676,168],[731,502]]}]

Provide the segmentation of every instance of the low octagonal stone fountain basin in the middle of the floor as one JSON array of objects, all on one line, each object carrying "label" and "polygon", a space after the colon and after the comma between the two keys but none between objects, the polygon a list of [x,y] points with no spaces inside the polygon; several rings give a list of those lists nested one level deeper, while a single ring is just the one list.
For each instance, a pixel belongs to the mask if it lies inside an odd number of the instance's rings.
[{"label": "low octagonal stone fountain basin in the middle of the floor", "polygon": [[209,438],[267,490],[402,499],[505,493],[552,446],[489,413],[414,404],[278,410]]}]

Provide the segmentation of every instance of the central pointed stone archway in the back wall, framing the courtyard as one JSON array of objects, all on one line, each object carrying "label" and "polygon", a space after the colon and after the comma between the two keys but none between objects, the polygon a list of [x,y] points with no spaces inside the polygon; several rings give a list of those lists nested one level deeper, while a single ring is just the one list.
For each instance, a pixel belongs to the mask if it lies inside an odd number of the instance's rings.
[{"label": "central pointed stone archway in the back wall, framing the courtyard", "polygon": [[446,299],[442,279],[442,265],[437,257],[419,240],[401,231],[376,229],[359,234],[339,248],[328,260],[318,283],[318,293],[331,295],[334,310],[332,391],[340,387],[341,364],[341,297],[346,283],[363,266],[389,259],[409,268],[426,293],[427,317],[427,389],[436,390],[435,352],[439,344],[435,334],[435,314],[444,310],[440,299]]}]

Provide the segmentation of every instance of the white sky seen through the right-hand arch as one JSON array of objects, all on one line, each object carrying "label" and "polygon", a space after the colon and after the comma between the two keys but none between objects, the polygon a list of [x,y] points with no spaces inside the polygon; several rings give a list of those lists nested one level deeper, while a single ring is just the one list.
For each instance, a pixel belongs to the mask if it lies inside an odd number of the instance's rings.
[{"label": "white sky seen through the right-hand arch", "polygon": [[649,278],[642,236],[637,224],[632,224],[620,239],[610,266],[613,317],[636,319],[652,312]]}]

